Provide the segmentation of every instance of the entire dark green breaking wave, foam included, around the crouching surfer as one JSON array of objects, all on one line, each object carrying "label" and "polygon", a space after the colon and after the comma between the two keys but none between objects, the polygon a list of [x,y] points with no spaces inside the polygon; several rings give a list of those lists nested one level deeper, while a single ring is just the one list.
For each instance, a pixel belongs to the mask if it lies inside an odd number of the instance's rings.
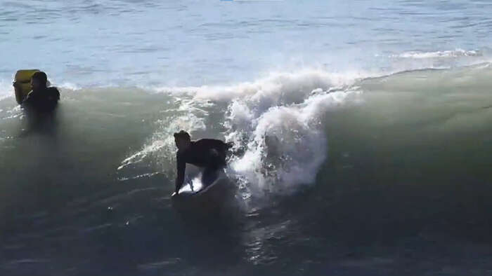
[{"label": "entire dark green breaking wave, foam included, around the crouching surfer", "polygon": [[[368,78],[304,70],[222,86],[63,88],[53,123],[33,121],[8,97],[1,270],[390,275],[408,261],[419,264],[409,273],[436,270],[426,260],[448,254],[486,262],[474,254],[491,242],[491,76],[485,63]],[[219,209],[171,204],[180,129],[235,145],[227,173],[237,189]]]}]

